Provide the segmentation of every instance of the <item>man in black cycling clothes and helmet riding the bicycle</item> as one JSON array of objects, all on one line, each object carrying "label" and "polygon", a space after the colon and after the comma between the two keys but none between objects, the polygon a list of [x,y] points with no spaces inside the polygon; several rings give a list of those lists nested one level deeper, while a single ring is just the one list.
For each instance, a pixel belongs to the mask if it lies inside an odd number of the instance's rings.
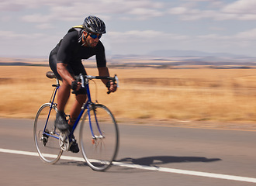
[{"label": "man in black cycling clothes and helmet riding the bicycle", "polygon": [[[102,19],[96,16],[85,18],[83,25],[74,26],[50,52],[49,64],[54,74],[62,81],[57,93],[57,115],[55,126],[61,132],[70,132],[75,120],[81,112],[81,106],[86,100],[86,90],[81,88],[81,83],[74,76],[86,75],[82,59],[95,56],[99,76],[109,76],[109,69],[106,67],[106,55],[102,42],[99,40],[102,34],[106,33],[106,26]],[[116,91],[116,84],[109,80],[102,80],[110,92]],[[71,89],[75,92],[74,105],[71,108],[70,119],[67,122],[64,108],[70,96]],[[78,143],[72,137],[70,150],[78,153]]]}]

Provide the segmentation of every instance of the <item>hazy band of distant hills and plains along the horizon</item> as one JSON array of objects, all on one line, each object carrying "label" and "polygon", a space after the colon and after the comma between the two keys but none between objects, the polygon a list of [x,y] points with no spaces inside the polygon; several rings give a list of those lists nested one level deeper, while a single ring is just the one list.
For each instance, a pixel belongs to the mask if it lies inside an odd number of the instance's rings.
[{"label": "hazy band of distant hills and plains along the horizon", "polygon": [[[154,50],[147,55],[107,56],[110,67],[164,67],[211,66],[220,68],[248,68],[256,66],[256,57],[232,53],[206,53],[196,50]],[[95,58],[83,62],[86,67],[95,67]],[[0,57],[0,66],[46,66],[47,57]],[[232,66],[232,67],[231,67]]]}]

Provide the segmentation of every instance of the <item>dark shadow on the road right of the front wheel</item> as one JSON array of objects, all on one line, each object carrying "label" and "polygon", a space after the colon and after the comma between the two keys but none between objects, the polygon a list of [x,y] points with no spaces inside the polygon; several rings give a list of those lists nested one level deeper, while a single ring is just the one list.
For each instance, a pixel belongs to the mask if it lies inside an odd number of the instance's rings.
[{"label": "dark shadow on the road right of the front wheel", "polygon": [[141,158],[131,158],[126,157],[121,160],[116,160],[118,162],[130,162],[138,165],[156,166],[159,164],[170,164],[170,163],[185,163],[185,162],[214,162],[219,161],[220,158],[206,157],[171,157],[171,156],[159,156],[159,157],[141,157]]}]

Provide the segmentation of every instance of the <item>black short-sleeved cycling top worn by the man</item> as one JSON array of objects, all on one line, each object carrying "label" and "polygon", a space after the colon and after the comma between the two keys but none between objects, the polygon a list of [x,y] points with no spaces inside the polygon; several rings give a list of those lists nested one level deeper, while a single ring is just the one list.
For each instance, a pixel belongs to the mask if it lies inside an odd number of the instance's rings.
[{"label": "black short-sleeved cycling top worn by the man", "polygon": [[96,47],[81,46],[82,29],[70,29],[64,38],[57,44],[53,52],[57,53],[57,63],[74,66],[95,55],[97,67],[106,67],[105,49],[101,41]]}]

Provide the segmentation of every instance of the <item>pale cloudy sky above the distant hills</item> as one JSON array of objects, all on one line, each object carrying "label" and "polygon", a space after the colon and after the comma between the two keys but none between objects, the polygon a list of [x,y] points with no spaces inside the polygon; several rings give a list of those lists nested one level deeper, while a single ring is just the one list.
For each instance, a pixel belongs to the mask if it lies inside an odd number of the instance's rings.
[{"label": "pale cloudy sky above the distant hills", "polygon": [[88,15],[106,54],[198,50],[256,57],[255,0],[1,0],[0,57],[48,57]]}]

